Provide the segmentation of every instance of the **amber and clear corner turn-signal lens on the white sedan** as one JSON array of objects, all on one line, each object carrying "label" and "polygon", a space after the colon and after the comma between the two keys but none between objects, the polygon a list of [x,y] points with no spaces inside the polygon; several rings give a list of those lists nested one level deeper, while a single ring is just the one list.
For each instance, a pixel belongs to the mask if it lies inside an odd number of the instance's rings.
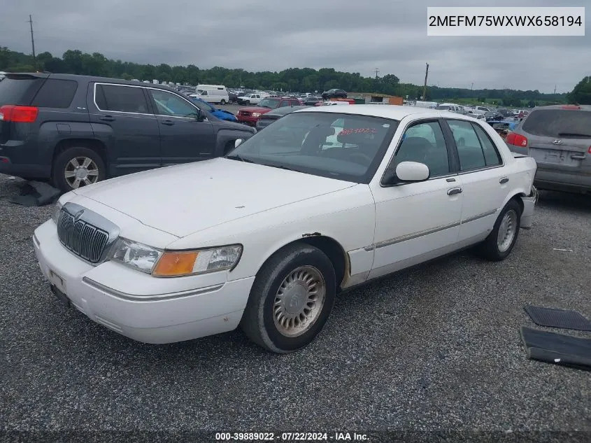
[{"label": "amber and clear corner turn-signal lens on the white sedan", "polygon": [[164,251],[152,275],[177,277],[232,269],[241,255],[239,244],[196,251]]}]

